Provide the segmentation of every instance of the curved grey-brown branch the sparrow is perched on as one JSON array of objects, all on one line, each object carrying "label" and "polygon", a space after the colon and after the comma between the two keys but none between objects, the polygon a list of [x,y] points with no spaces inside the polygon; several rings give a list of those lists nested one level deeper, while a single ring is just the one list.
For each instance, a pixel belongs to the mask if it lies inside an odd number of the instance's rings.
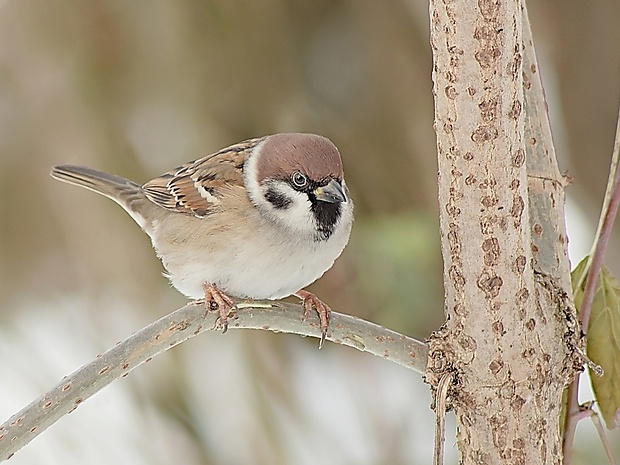
[{"label": "curved grey-brown branch the sparrow is perched on", "polygon": [[[229,316],[229,329],[262,329],[320,337],[317,316],[310,315],[303,321],[301,315],[300,305],[241,302]],[[203,304],[190,303],[98,355],[0,425],[0,460],[9,459],[115,379],[127,376],[137,366],[193,336],[216,329],[216,317],[207,314]],[[418,373],[426,370],[424,342],[353,316],[332,312],[327,340],[369,352]]]}]

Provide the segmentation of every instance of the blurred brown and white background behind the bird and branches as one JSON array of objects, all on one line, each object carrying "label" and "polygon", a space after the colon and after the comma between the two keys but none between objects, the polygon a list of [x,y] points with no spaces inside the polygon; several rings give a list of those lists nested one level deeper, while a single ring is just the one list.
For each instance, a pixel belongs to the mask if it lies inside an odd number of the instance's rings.
[{"label": "blurred brown and white background behind the bird and branches", "polygon": [[[577,263],[613,146],[620,3],[529,8],[560,168],[574,177]],[[431,86],[422,0],[0,0],[0,420],[185,302],[129,216],[53,181],[55,164],[144,182],[248,137],[323,134],[342,153],[356,223],[311,289],[408,335],[437,329]],[[606,260],[616,276],[619,232]],[[11,463],[430,463],[421,377],[316,345],[204,334],[104,389]],[[602,462],[590,423],[577,439],[577,463]]]}]

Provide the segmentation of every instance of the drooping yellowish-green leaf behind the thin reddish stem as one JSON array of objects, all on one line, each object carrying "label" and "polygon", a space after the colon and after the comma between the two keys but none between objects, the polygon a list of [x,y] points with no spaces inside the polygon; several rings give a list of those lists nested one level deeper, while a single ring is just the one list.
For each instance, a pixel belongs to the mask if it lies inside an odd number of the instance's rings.
[{"label": "drooping yellowish-green leaf behind the thin reddish stem", "polygon": [[[584,259],[573,271],[573,280],[585,266]],[[608,429],[620,427],[620,284],[603,267],[599,274],[588,322],[586,353],[600,365],[603,376],[590,370],[594,396]],[[574,290],[575,291],[575,290]],[[575,306],[581,308],[583,287],[575,292]]]}]

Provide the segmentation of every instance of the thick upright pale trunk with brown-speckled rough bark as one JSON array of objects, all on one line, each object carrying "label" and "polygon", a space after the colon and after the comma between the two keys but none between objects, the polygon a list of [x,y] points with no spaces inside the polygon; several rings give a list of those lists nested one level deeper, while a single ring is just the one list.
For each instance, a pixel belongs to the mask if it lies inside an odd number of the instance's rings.
[{"label": "thick upright pale trunk with brown-speckled rough bark", "polygon": [[447,321],[426,379],[453,378],[460,463],[561,463],[581,336],[527,15],[519,0],[430,4]]}]

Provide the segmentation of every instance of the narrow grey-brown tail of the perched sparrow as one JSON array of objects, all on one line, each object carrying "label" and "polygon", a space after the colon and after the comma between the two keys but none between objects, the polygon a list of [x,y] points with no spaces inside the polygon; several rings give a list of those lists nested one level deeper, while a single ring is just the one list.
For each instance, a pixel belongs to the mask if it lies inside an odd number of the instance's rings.
[{"label": "narrow grey-brown tail of the perched sparrow", "polygon": [[59,181],[84,187],[114,200],[140,227],[144,229],[146,226],[143,213],[144,207],[150,204],[150,201],[144,195],[142,187],[135,182],[85,166],[74,165],[55,166],[50,175]]}]

